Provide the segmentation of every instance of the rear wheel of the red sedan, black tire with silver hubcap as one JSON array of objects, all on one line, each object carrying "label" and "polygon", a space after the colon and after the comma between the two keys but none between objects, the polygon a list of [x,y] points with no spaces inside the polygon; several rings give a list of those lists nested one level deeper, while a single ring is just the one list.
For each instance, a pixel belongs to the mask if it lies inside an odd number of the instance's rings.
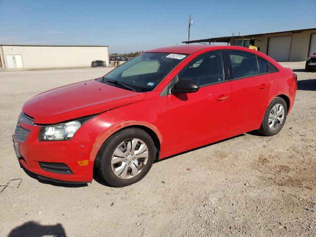
[{"label": "rear wheel of the red sedan, black tire with silver hubcap", "polygon": [[[284,115],[283,117],[278,117],[277,113],[275,113],[276,110],[279,109],[281,111],[281,105],[284,110]],[[276,109],[278,108],[278,109]],[[281,113],[280,113],[281,114]],[[283,127],[285,120],[286,120],[286,115],[287,115],[287,105],[285,101],[281,97],[276,97],[269,105],[262,123],[261,127],[259,128],[258,132],[266,135],[266,136],[273,136],[276,135]],[[282,118],[282,121],[280,122]],[[271,121],[272,119],[272,121]],[[276,120],[274,120],[276,119]],[[272,126],[272,127],[271,127]]]}]

